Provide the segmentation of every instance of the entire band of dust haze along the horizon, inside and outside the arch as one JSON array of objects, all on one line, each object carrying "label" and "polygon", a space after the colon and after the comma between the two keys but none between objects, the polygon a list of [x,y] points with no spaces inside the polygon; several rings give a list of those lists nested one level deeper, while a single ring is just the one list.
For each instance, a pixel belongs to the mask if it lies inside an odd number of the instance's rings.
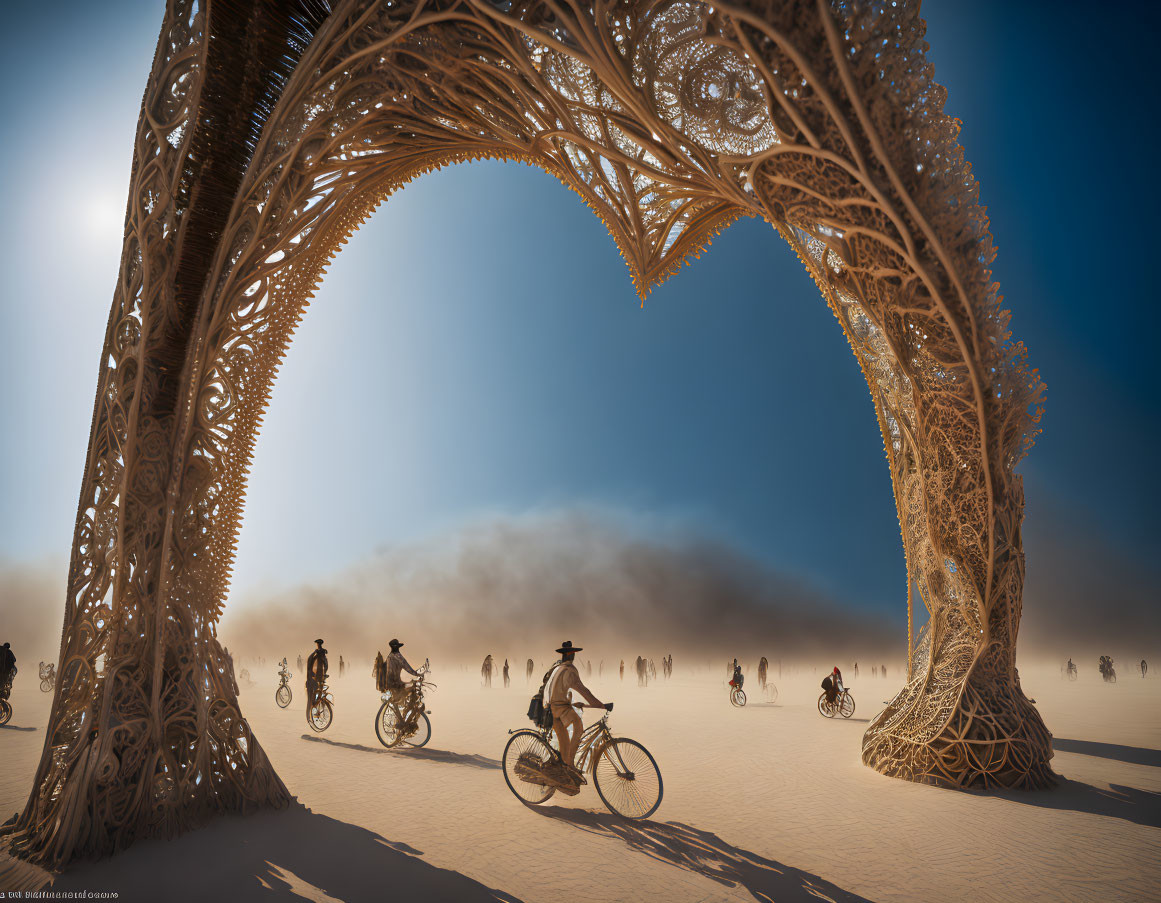
[{"label": "entire band of dust haze along the horizon, inside and outside the arch", "polygon": [[[1058,512],[1059,514],[1059,512]],[[1075,518],[1045,512],[1024,532],[1019,660],[1161,662],[1152,573]],[[67,572],[0,561],[0,642],[22,664],[59,650]],[[904,608],[900,591],[900,615]],[[326,640],[367,659],[398,636],[405,652],[513,669],[562,640],[594,665],[673,652],[686,664],[738,656],[902,665],[906,626],[843,605],[722,542],[642,527],[616,512],[493,518],[383,549],[345,572],[228,601],[222,641],[243,660],[294,662]],[[240,666],[240,665],[239,665]]]}]

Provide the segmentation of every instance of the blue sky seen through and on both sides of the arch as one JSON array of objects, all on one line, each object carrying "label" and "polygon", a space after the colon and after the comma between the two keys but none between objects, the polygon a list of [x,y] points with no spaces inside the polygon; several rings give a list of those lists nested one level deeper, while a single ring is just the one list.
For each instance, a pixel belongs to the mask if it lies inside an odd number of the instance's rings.
[{"label": "blue sky seen through and on both sides of the arch", "polygon": [[[1155,124],[1138,100],[1155,82],[1156,14],[1126,12],[1126,29],[1079,3],[924,13],[1015,334],[1048,384],[1022,467],[1025,540],[1063,523],[1144,568],[1161,539]],[[29,5],[0,37],[7,562],[67,558],[160,15],[136,0],[67,16]],[[737,223],[642,309],[612,239],[554,179],[511,164],[425,176],[338,257],[291,347],[235,594],[464,520],[578,506],[705,533],[902,617],[866,387],[769,226]],[[1030,558],[1030,593],[1045,564]]]}]

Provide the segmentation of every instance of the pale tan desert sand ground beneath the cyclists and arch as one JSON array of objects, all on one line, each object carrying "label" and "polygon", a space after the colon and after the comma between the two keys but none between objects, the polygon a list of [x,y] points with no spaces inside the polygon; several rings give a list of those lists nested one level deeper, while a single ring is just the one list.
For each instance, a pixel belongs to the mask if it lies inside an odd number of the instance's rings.
[{"label": "pale tan desert sand ground beneath the cyclists and arch", "polygon": [[[291,656],[293,659],[293,656]],[[337,662],[337,656],[334,657]],[[614,734],[663,773],[652,819],[610,815],[592,786],[526,808],[499,767],[534,687],[486,689],[477,667],[433,663],[433,736],[418,751],[375,738],[368,667],[332,680],[334,722],[274,705],[274,665],[246,666],[241,703],[302,803],[222,818],[174,841],[81,865],[53,890],[121,900],[363,901],[1144,901],[1161,900],[1161,680],[1086,669],[1023,672],[1054,734],[1061,786],[958,793],[884,778],[859,763],[867,718],[899,679],[848,674],[858,710],[822,718],[819,674],[777,677],[776,703],[748,681],[733,708],[724,667],[678,662],[670,681],[594,677]],[[334,669],[337,670],[337,669]],[[1089,672],[1093,673],[1089,673]],[[33,671],[35,678],[35,670]],[[534,681],[539,682],[538,670]],[[50,696],[27,670],[0,728],[0,814],[19,809],[44,742]],[[586,721],[591,713],[586,713]]]}]

